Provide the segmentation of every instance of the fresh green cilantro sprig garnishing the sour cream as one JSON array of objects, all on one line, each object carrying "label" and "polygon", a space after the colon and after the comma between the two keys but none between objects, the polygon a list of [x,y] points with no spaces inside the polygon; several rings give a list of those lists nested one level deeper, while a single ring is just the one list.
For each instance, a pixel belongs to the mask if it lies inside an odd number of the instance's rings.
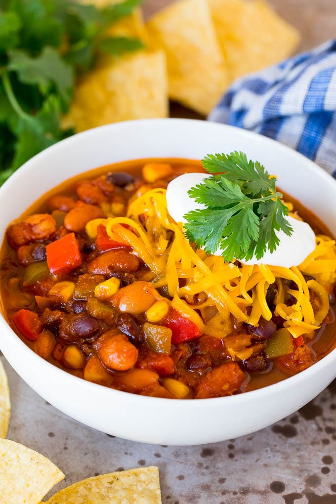
[{"label": "fresh green cilantro sprig garnishing the sour cream", "polygon": [[[276,190],[276,178],[242,152],[206,156],[202,164],[213,173],[192,187],[189,196],[206,208],[188,212],[185,236],[207,254],[220,247],[226,261],[261,259],[279,245],[276,231],[293,232],[288,208]],[[220,173],[220,174],[219,174]]]}]

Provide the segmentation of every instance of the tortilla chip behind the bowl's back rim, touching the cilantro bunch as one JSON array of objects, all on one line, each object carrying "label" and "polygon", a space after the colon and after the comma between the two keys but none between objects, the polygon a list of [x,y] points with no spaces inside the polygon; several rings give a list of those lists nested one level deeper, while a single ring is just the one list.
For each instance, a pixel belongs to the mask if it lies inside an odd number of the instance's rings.
[{"label": "tortilla chip behind the bowl's back rim, touching the cilantro bunch", "polygon": [[111,58],[85,76],[62,123],[80,132],[110,122],[167,115],[164,53],[141,50]]}]

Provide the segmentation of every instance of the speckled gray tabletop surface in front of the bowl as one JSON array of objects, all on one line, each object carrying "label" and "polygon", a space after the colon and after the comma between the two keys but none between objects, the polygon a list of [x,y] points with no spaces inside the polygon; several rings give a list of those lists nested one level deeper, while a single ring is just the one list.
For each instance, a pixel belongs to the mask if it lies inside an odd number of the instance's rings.
[{"label": "speckled gray tabletop surface in front of the bowl", "polygon": [[11,388],[8,437],[64,472],[55,491],[89,476],[157,465],[164,504],[336,503],[336,381],[298,413],[254,434],[166,447],[111,437],[72,420],[2,359]]}]

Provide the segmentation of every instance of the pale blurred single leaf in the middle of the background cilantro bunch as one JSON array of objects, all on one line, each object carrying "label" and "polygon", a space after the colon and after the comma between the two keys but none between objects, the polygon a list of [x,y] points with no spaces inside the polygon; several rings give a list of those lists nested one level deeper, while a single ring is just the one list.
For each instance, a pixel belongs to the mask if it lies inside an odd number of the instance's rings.
[{"label": "pale blurred single leaf in the middle of the background cilantro bunch", "polygon": [[22,83],[36,84],[42,94],[47,94],[54,84],[64,102],[70,102],[73,71],[55,49],[45,47],[36,58],[19,49],[9,50],[8,54],[8,70],[17,72]]}]

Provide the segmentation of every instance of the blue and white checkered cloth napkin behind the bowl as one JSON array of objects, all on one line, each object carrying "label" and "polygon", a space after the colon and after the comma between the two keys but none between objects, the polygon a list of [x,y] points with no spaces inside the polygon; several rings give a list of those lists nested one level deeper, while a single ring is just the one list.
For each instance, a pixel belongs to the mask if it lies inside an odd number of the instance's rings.
[{"label": "blue and white checkered cloth napkin behind the bowl", "polygon": [[208,119],[274,138],[336,178],[336,39],[237,79]]}]

